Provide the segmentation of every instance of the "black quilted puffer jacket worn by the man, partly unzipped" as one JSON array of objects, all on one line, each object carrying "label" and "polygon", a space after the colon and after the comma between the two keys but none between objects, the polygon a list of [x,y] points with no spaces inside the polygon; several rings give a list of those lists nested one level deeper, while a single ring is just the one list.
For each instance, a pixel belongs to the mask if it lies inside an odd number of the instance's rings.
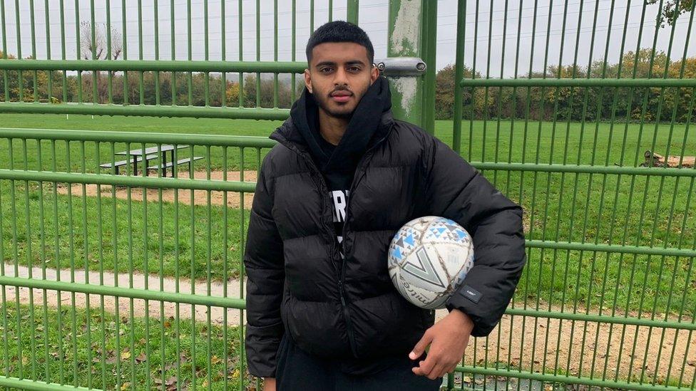
[{"label": "black quilted puffer jacket worn by the man, partly unzipped", "polygon": [[[384,96],[368,92],[348,131],[367,126],[377,102]],[[416,217],[453,219],[474,238],[475,266],[447,305],[474,320],[472,335],[488,335],[513,295],[525,263],[521,207],[444,143],[382,108],[349,192],[345,259],[326,184],[292,114],[271,135],[279,144],[262,163],[244,256],[252,375],[275,376],[285,330],[322,357],[407,355],[434,323],[434,311],[399,296],[387,250]]]}]

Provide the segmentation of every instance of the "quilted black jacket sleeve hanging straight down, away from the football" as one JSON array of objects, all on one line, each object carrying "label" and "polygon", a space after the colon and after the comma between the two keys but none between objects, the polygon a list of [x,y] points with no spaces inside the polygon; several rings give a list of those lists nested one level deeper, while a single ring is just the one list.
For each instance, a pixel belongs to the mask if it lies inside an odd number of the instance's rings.
[{"label": "quilted black jacket sleeve hanging straight down, away from the football", "polygon": [[284,333],[280,303],[285,272],[282,241],[271,215],[273,197],[267,186],[264,166],[256,183],[244,254],[247,273],[246,353],[252,375],[275,377],[276,353]]}]

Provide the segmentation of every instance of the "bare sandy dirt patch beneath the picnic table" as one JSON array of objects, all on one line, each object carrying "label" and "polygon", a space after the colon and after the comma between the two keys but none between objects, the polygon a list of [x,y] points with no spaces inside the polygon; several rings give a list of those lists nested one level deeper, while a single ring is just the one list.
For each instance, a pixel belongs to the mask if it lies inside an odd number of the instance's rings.
[{"label": "bare sandy dirt patch beneath the picnic table", "polygon": [[[210,179],[222,180],[222,171],[212,171],[210,172]],[[150,177],[156,177],[156,174],[150,174]],[[188,172],[178,172],[178,178],[188,179]],[[205,171],[195,171],[193,172],[194,179],[208,179],[208,174]],[[239,171],[228,171],[227,180],[238,181],[240,180]],[[244,172],[244,182],[256,182],[256,171],[249,170]],[[82,196],[82,184],[73,184],[71,187],[71,194],[73,196]],[[155,201],[158,199],[158,189],[147,189],[148,201]],[[179,202],[181,204],[191,204],[191,190],[180,189],[179,192]],[[86,185],[86,193],[88,197],[96,197],[97,195],[97,185],[88,184]],[[175,189],[163,189],[162,190],[162,200],[163,202],[174,202]],[[58,194],[68,194],[68,187],[62,186],[58,187]],[[210,204],[222,205],[224,200],[223,192],[210,192]],[[102,197],[111,197],[111,186],[101,185],[101,195]],[[128,199],[128,189],[126,187],[116,187],[116,198]],[[244,194],[244,208],[251,209],[252,199],[254,198],[253,193]],[[140,187],[131,188],[131,199],[134,201],[143,200],[143,189]],[[227,192],[227,206],[232,208],[240,207],[240,193],[237,192]],[[207,205],[208,204],[208,191],[207,190],[193,190],[193,203],[196,205]]]}]

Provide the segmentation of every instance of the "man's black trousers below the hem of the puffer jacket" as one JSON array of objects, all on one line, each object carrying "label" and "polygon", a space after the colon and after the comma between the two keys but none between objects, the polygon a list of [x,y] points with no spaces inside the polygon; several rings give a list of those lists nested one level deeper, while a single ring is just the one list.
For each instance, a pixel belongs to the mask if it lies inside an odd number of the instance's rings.
[{"label": "man's black trousers below the hem of the puffer jacket", "polygon": [[339,363],[317,358],[297,348],[287,333],[278,348],[276,385],[278,391],[436,391],[442,378],[430,380],[415,375],[411,367],[416,361],[404,357],[394,365],[371,375],[349,375]]}]

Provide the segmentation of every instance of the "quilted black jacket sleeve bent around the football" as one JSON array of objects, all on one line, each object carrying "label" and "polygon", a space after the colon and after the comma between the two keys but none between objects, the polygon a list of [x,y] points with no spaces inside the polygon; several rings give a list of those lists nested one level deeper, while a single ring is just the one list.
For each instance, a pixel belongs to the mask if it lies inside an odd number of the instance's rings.
[{"label": "quilted black jacket sleeve bent around the football", "polygon": [[456,221],[474,239],[474,266],[446,306],[474,320],[471,335],[486,336],[503,316],[526,261],[522,208],[450,147],[431,140],[424,153],[428,212]]}]

